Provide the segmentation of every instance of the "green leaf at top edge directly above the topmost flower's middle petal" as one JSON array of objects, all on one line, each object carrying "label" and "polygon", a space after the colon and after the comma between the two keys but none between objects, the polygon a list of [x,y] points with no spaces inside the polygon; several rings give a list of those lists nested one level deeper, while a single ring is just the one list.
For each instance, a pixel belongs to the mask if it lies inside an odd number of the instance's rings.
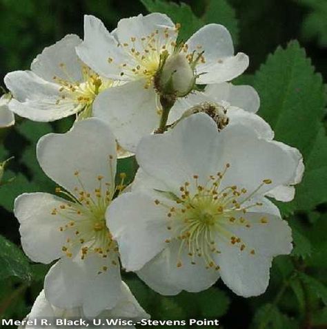
[{"label": "green leaf at top edge directly above the topmost flower's middle petal", "polygon": [[190,6],[185,3],[178,5],[163,0],[141,0],[149,12],[161,12],[167,14],[172,21],[181,24],[179,39],[186,41],[194,32],[199,30],[203,23],[192,12]]}]

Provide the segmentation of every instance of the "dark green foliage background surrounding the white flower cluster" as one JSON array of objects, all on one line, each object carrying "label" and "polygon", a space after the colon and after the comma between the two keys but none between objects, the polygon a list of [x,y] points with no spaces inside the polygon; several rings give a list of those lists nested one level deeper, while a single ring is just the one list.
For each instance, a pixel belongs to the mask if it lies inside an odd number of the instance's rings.
[{"label": "dark green foliage background surrounding the white flower cluster", "polygon": [[[275,259],[264,295],[244,299],[217,282],[198,294],[163,297],[135,275],[124,279],[152,319],[219,319],[225,329],[327,328],[326,0],[0,0],[1,81],[6,72],[28,70],[43,47],[65,34],[83,36],[83,14],[95,14],[112,30],[122,17],[149,11],[181,23],[183,40],[205,23],[226,25],[236,49],[250,56],[246,75],[235,83],[257,89],[259,114],[277,140],[300,149],[306,174],[295,200],[278,204],[295,248]],[[0,130],[0,161],[15,157],[4,181],[15,179],[0,188],[0,319],[25,317],[42,288],[48,266],[30,263],[21,251],[12,204],[26,191],[54,191],[37,165],[35,145],[70,125],[70,118],[51,124],[20,118]],[[130,178],[134,170],[133,160],[119,162]]]}]

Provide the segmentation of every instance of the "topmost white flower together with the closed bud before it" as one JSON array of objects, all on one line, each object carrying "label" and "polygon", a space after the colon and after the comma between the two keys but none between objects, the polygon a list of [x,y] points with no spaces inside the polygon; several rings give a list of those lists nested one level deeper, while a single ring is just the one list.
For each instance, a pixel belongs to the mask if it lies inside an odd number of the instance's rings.
[{"label": "topmost white flower together with the closed bud before it", "polygon": [[101,93],[94,114],[110,123],[129,151],[159,127],[159,89],[170,77],[172,90],[183,96],[195,83],[230,81],[248,67],[248,56],[234,55],[224,26],[206,25],[180,45],[178,31],[169,17],[159,13],[121,19],[111,34],[99,19],[85,17],[84,41],[77,54],[101,76],[126,82]]}]

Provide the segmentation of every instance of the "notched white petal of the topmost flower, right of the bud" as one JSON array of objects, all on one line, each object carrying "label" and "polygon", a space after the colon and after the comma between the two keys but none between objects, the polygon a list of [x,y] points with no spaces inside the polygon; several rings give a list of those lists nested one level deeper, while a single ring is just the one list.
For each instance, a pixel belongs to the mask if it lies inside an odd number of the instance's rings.
[{"label": "notched white petal of the topmost flower, right of the bud", "polygon": [[197,83],[221,83],[239,76],[248,67],[248,56],[239,53],[234,56],[232,37],[228,30],[219,24],[208,24],[200,28],[187,41],[188,52],[204,51],[205,63],[197,65],[201,74]]}]

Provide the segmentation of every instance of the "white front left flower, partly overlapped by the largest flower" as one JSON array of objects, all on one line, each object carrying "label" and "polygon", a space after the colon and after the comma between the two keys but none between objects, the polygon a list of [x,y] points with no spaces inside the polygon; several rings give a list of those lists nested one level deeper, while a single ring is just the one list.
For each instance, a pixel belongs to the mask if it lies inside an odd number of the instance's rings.
[{"label": "white front left flower, partly overlapped by the largest flower", "polygon": [[90,317],[114,307],[121,295],[118,248],[104,217],[123,189],[123,181],[115,187],[116,158],[115,137],[97,118],[43,136],[37,159],[65,189],[56,190],[63,198],[24,193],[14,204],[26,255],[44,264],[59,259],[46,275],[46,298],[59,308],[81,306]]}]

